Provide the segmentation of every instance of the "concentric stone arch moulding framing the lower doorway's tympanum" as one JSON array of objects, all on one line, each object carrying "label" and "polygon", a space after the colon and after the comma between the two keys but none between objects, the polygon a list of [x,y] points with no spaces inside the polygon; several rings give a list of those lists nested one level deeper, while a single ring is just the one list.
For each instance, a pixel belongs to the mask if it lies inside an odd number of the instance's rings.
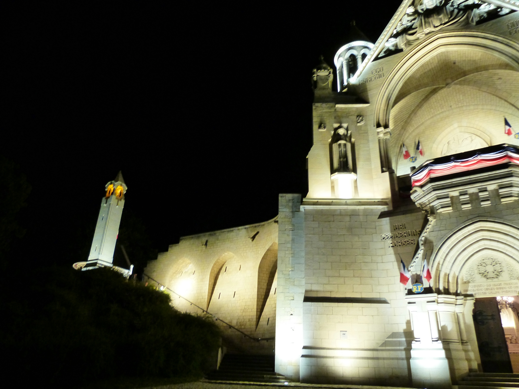
[{"label": "concentric stone arch moulding framing the lower doorway's tympanum", "polygon": [[495,257],[519,276],[519,228],[506,221],[477,217],[446,234],[431,256],[432,285],[445,293],[461,293],[462,275],[478,258]]}]

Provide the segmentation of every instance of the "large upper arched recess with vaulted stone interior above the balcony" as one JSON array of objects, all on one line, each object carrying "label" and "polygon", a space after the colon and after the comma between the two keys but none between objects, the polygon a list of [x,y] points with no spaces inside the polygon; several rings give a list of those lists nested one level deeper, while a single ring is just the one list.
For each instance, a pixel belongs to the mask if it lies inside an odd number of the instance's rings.
[{"label": "large upper arched recess with vaulted stone interior above the balcony", "polygon": [[[375,125],[389,128],[381,155],[402,177],[428,159],[500,143],[504,118],[519,128],[519,45],[484,32],[443,32],[399,61],[377,98]],[[420,142],[424,155],[416,151]],[[411,158],[403,155],[403,145]]]}]

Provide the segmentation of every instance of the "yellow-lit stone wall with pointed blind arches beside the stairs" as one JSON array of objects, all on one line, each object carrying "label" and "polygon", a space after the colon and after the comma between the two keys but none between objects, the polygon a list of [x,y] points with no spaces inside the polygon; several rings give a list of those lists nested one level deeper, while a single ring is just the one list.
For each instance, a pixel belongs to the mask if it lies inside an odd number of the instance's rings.
[{"label": "yellow-lit stone wall with pointed blind arches beside the stairs", "polygon": [[[145,273],[176,293],[166,289],[177,310],[195,314],[207,310],[252,338],[274,338],[277,240],[277,219],[182,237],[148,262]],[[229,351],[274,352],[274,340],[252,341],[217,323]]]}]

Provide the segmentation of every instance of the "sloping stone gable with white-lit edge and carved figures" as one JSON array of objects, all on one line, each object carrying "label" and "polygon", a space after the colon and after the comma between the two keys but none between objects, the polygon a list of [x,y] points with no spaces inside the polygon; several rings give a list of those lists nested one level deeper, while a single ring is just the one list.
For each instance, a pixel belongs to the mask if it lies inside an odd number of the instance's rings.
[{"label": "sloping stone gable with white-lit edge and carved figures", "polygon": [[404,0],[351,82],[372,61],[405,51],[445,27],[477,25],[514,11],[519,0]]}]

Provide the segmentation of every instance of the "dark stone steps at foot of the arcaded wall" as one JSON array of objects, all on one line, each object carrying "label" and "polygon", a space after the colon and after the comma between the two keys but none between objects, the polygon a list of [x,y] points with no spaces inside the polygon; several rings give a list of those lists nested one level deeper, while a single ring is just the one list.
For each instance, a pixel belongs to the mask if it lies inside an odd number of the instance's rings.
[{"label": "dark stone steps at foot of the arcaded wall", "polygon": [[211,371],[209,381],[288,382],[274,371],[274,355],[225,354],[220,368]]}]

